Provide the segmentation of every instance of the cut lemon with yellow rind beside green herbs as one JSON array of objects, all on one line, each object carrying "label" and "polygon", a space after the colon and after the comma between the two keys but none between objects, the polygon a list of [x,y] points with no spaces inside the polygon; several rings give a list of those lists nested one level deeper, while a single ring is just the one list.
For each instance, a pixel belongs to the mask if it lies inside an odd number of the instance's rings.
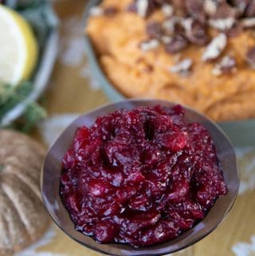
[{"label": "cut lemon with yellow rind beside green herbs", "polygon": [[20,14],[0,4],[0,81],[17,85],[37,63],[37,41]]}]

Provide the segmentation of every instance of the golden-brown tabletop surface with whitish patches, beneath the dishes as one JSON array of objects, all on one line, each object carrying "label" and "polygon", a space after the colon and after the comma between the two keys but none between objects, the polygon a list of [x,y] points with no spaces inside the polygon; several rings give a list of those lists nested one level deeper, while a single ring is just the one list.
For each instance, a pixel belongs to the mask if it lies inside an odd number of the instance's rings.
[{"label": "golden-brown tabletop surface with whitish patches, beneath the dishes", "polygon": [[[46,92],[45,108],[49,112],[49,120],[45,120],[40,128],[41,134],[44,135],[41,136],[41,140],[48,140],[48,143],[74,116],[108,102],[96,85],[96,81],[90,77],[86,64],[82,38],[84,28],[81,22],[84,5],[83,0],[59,0],[55,4],[61,19],[60,52]],[[241,193],[233,210],[217,230],[190,247],[184,254],[255,255],[255,148],[242,150],[240,155],[243,155],[239,157]],[[49,230],[41,243],[29,249],[26,254],[19,255],[37,256],[37,254],[40,256],[101,255],[73,242],[56,226]]]}]

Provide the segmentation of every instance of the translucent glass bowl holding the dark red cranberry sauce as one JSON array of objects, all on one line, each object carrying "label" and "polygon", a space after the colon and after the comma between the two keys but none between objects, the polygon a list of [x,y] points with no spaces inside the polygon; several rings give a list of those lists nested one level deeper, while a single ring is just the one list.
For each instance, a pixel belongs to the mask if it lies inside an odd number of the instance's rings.
[{"label": "translucent glass bowl holding the dark red cranberry sauce", "polygon": [[222,129],[218,127],[218,124],[215,124],[206,116],[203,116],[190,108],[184,107],[186,109],[185,119],[187,122],[199,122],[210,131],[217,148],[218,159],[222,163],[223,175],[226,180],[226,185],[229,188],[229,193],[216,201],[214,207],[210,209],[206,218],[200,223],[184,232],[179,236],[179,238],[175,238],[174,240],[164,242],[156,246],[135,249],[132,246],[124,244],[99,244],[91,237],[81,234],[75,230],[74,224],[69,217],[69,213],[65,210],[61,201],[59,187],[61,161],[73,141],[73,136],[77,128],[82,125],[89,127],[94,123],[97,116],[105,115],[121,108],[131,109],[139,106],[154,106],[156,104],[168,107],[175,105],[174,103],[164,100],[124,100],[114,104],[108,104],[101,108],[97,108],[92,112],[85,113],[78,117],[77,120],[74,120],[68,128],[65,128],[65,131],[57,138],[45,157],[45,163],[42,167],[41,193],[45,207],[49,211],[49,215],[52,217],[54,222],[57,223],[57,226],[65,232],[65,234],[68,234],[69,237],[92,250],[96,250],[104,254],[123,256],[155,256],[170,254],[177,250],[182,250],[210,234],[210,232],[214,230],[219,223],[222,223],[222,220],[226,217],[233,206],[239,187],[236,156],[233,151],[233,146],[225,133],[222,132]]}]

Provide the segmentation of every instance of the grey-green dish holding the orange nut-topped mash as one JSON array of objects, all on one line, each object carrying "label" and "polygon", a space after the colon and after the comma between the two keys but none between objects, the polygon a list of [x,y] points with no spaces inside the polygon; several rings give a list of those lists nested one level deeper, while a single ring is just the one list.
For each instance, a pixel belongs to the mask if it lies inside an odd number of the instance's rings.
[{"label": "grey-green dish holding the orange nut-topped mash", "polygon": [[[99,4],[101,0],[91,0],[86,5],[84,11],[84,26],[87,26],[89,13],[88,10],[92,6]],[[111,81],[104,74],[97,60],[96,52],[93,49],[90,38],[84,34],[84,49],[88,57],[88,62],[92,70],[92,75],[99,81],[104,93],[112,101],[122,100],[125,98],[123,94],[112,85]],[[254,81],[255,82],[255,81]],[[251,147],[255,146],[255,120],[238,120],[218,123],[226,134],[230,137],[231,142],[235,147]]]}]

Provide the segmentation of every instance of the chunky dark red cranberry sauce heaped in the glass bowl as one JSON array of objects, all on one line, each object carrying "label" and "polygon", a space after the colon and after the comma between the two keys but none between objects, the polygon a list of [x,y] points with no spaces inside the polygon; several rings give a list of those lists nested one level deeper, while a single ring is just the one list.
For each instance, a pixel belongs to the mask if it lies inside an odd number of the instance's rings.
[{"label": "chunky dark red cranberry sauce heaped in the glass bowl", "polygon": [[122,109],[77,129],[60,189],[77,230],[151,246],[205,218],[227,187],[210,133],[184,116],[179,105]]}]

